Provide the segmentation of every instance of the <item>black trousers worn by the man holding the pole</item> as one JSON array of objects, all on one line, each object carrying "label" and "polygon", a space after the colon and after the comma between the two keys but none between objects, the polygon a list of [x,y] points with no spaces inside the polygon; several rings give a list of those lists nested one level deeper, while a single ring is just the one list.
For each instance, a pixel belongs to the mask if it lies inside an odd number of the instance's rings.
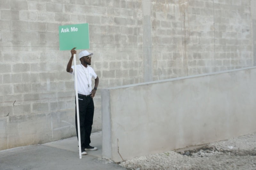
[{"label": "black trousers worn by the man holding the pole", "polygon": [[[85,148],[91,143],[91,132],[94,114],[94,103],[90,95],[78,94],[79,104],[79,120],[80,120],[80,135],[81,135],[81,148]],[[77,131],[77,116],[76,116],[76,136],[78,139]]]}]

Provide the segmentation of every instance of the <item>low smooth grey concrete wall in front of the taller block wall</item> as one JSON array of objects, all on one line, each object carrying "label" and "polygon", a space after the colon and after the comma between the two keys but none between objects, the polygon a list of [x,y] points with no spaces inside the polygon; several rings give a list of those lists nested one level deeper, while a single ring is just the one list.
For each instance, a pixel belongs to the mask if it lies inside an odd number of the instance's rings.
[{"label": "low smooth grey concrete wall in front of the taller block wall", "polygon": [[102,89],[102,154],[118,162],[256,131],[255,84],[251,67]]}]

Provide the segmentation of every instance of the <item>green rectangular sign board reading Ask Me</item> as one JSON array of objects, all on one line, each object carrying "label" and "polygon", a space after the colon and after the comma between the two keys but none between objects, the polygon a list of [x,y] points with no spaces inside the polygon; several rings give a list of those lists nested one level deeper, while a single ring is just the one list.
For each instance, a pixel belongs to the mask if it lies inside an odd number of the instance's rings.
[{"label": "green rectangular sign board reading Ask Me", "polygon": [[61,25],[59,26],[60,50],[89,49],[89,25]]}]

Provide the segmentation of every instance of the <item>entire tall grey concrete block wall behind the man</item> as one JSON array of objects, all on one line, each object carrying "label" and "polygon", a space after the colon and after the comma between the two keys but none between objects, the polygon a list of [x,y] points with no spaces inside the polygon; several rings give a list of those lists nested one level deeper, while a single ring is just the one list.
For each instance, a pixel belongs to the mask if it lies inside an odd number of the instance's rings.
[{"label": "entire tall grey concrete block wall behind the man", "polygon": [[75,135],[59,25],[89,23],[99,131],[101,88],[252,66],[253,7],[254,0],[0,0],[0,150]]}]

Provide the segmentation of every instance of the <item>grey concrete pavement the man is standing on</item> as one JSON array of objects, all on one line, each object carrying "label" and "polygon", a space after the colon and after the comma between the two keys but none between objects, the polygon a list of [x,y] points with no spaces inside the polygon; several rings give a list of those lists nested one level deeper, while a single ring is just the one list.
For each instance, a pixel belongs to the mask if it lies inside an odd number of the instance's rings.
[{"label": "grey concrete pavement the man is standing on", "polygon": [[124,170],[108,159],[101,157],[102,135],[92,133],[91,145],[98,147],[97,151],[88,151],[79,159],[78,142],[76,137],[39,145],[23,146],[0,151],[1,170],[20,169],[92,169],[92,170]]}]

